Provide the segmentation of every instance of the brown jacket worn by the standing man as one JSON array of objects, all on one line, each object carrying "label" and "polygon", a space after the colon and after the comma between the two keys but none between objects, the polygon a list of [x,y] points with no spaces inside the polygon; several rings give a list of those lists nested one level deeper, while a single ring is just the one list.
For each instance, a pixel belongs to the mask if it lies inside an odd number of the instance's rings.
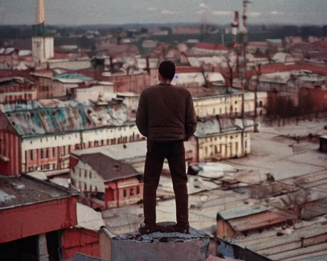
[{"label": "brown jacket worn by the standing man", "polygon": [[191,93],[158,84],[143,90],[136,113],[139,132],[149,141],[186,141],[197,126]]}]

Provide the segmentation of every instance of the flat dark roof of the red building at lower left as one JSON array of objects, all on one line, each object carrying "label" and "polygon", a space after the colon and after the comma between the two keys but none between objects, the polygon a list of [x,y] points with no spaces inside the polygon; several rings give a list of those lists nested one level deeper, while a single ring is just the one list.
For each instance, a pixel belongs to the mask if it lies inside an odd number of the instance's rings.
[{"label": "flat dark roof of the red building at lower left", "polygon": [[[76,195],[77,191],[73,191]],[[28,176],[0,176],[0,210],[69,197],[69,191]]]}]

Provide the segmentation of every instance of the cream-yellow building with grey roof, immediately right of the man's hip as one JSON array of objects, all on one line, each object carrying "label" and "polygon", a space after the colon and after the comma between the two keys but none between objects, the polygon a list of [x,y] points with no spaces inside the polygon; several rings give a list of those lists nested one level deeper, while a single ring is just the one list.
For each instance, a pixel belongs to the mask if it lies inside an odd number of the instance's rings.
[{"label": "cream-yellow building with grey roof, immediately right of the man's hip", "polygon": [[247,121],[224,117],[198,121],[197,130],[185,142],[189,164],[240,158],[250,153],[250,133]]}]

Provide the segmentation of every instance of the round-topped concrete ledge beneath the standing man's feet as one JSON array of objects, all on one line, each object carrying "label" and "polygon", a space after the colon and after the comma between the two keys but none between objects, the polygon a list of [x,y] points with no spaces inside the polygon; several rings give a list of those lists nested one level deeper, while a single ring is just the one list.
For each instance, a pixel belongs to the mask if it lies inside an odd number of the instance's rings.
[{"label": "round-topped concrete ledge beneath the standing man's feet", "polygon": [[[174,223],[159,223],[171,224]],[[189,234],[153,232],[141,236],[135,231],[111,239],[111,260],[204,261],[209,242],[208,234],[192,227]]]}]

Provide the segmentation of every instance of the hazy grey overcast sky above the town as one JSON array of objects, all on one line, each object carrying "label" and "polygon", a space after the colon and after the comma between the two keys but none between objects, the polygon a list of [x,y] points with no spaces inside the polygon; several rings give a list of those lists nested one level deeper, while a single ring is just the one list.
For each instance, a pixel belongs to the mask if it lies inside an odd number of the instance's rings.
[{"label": "hazy grey overcast sky above the town", "polygon": [[[1,24],[33,24],[36,0],[0,0]],[[242,0],[45,0],[47,24],[231,22]],[[327,24],[327,0],[252,0],[249,23]]]}]

